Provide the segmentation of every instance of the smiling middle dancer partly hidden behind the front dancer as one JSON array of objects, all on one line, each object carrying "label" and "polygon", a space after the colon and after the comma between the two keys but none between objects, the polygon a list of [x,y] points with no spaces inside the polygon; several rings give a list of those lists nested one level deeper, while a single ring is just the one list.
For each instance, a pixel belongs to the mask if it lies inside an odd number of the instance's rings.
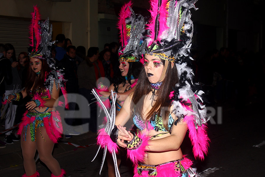
[{"label": "smiling middle dancer partly hidden behind the front dancer", "polygon": [[[122,108],[127,96],[134,91],[139,73],[143,67],[140,59],[143,60],[144,45],[142,33],[144,32],[145,23],[143,16],[139,14],[136,16],[131,7],[132,2],[129,1],[122,6],[119,14],[118,28],[120,31],[120,43],[122,44],[118,50],[120,76],[114,78],[114,83],[110,87],[107,88],[102,83],[99,83],[96,89],[108,108],[108,105],[110,105],[109,99],[112,99],[111,90],[114,91],[114,94],[117,96],[114,103],[116,106],[116,114]],[[124,150],[121,149],[117,154],[118,168],[122,154],[124,154]],[[107,164],[108,176],[115,177],[115,165],[110,153],[107,154]]]}]

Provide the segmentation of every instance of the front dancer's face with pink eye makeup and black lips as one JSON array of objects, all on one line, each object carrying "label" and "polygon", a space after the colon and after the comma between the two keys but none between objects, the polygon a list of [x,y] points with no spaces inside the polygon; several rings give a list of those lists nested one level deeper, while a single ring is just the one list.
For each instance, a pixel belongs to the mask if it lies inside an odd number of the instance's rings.
[{"label": "front dancer's face with pink eye makeup and black lips", "polygon": [[164,65],[160,58],[153,55],[145,55],[144,68],[146,76],[150,83],[160,81]]}]

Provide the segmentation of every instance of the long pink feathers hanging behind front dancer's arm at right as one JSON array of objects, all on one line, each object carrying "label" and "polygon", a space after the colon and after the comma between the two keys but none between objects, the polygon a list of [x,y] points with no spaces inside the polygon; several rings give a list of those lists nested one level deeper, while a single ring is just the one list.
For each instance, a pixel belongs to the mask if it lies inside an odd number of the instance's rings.
[{"label": "long pink feathers hanging behind front dancer's arm at right", "polygon": [[[188,102],[190,102],[188,100]],[[182,104],[182,106],[189,110],[193,111],[190,107]],[[184,121],[188,124],[189,129],[189,138],[191,139],[191,144],[193,146],[193,155],[195,158],[204,160],[204,154],[207,155],[210,139],[207,135],[207,124],[202,124],[201,127],[194,126],[194,116],[186,115]]]}]

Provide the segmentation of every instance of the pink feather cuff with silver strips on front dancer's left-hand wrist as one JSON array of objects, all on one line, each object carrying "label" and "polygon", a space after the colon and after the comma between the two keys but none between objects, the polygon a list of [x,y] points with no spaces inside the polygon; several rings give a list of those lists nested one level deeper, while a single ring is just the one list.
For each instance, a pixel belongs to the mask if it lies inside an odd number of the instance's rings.
[{"label": "pink feather cuff with silver strips on front dancer's left-hand wrist", "polygon": [[118,153],[118,145],[110,139],[110,135],[105,132],[104,128],[98,130],[97,134],[97,145],[101,145],[102,148],[105,148],[105,146],[107,145],[107,150],[110,153],[112,153],[113,150],[115,151],[115,153]]}]

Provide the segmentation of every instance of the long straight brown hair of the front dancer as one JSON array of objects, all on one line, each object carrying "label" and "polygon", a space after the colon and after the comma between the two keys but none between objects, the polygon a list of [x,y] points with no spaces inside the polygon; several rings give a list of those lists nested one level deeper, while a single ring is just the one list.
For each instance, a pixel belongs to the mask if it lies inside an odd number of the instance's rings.
[{"label": "long straight brown hair of the front dancer", "polygon": [[[165,65],[165,60],[162,60],[162,62]],[[173,65],[172,68],[171,67],[172,67],[171,62],[169,62],[163,83],[160,86],[160,89],[155,92],[155,95],[157,95],[155,104],[145,116],[146,121],[148,121],[149,118],[152,117],[155,112],[158,113],[158,115],[162,113],[163,126],[166,128],[166,130],[169,129],[168,118],[170,114],[169,109],[171,105],[169,95],[170,95],[170,92],[173,91],[175,84],[178,83],[177,67],[175,64]],[[150,82],[145,73],[145,69],[143,67],[140,72],[138,82],[136,84],[136,88],[132,95],[132,102],[130,105],[131,116],[133,115],[133,112],[135,111],[138,114],[140,114],[141,117],[143,117],[144,99],[145,99],[145,96],[149,94],[151,90],[152,90],[152,87],[150,85]]]}]

